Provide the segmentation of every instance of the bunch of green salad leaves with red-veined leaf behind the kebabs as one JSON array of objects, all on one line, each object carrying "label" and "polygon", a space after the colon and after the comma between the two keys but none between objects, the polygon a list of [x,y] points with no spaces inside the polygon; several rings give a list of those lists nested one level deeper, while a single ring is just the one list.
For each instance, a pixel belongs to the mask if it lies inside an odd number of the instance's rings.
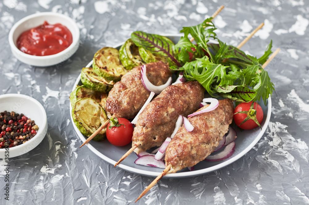
[{"label": "bunch of green salad leaves with red-veined leaf behind the kebabs", "polygon": [[[211,20],[207,18],[197,26],[183,27],[180,32],[184,37],[177,44],[164,36],[142,31],[133,32],[131,38],[136,46],[166,58],[171,70],[183,72],[189,81],[200,82],[211,96],[217,94],[237,102],[262,98],[266,105],[274,87],[261,64],[272,54],[272,41],[260,58],[247,55],[220,41]],[[190,41],[189,34],[196,44]],[[210,39],[218,43],[210,43]]]}]

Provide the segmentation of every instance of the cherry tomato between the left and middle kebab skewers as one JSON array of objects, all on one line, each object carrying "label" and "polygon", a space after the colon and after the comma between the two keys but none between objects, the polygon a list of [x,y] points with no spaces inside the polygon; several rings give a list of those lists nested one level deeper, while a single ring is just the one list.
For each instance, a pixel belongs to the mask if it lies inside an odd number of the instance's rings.
[{"label": "cherry tomato between the left and middle kebab skewers", "polygon": [[[115,118],[114,118],[115,119]],[[119,127],[112,127],[109,128],[112,124],[112,126],[115,125],[115,123],[108,123],[107,130],[106,130],[106,137],[108,141],[115,146],[121,147],[129,144],[132,141],[133,136],[133,125],[130,123],[129,120],[125,118],[116,118],[118,119],[118,123],[116,123],[116,126]]]}]

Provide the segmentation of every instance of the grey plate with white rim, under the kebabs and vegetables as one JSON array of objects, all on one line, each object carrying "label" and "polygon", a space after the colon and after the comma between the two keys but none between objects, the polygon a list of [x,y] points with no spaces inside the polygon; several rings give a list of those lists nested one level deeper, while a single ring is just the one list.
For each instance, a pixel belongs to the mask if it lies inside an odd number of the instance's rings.
[{"label": "grey plate with white rim, under the kebabs and vegetables", "polygon": [[[166,37],[170,38],[172,41],[177,42],[181,35],[175,35],[175,34],[165,34]],[[120,45],[114,46],[115,48],[119,48],[123,43]],[[86,67],[90,67],[92,65],[92,61],[88,63]],[[82,68],[81,68],[82,69]],[[76,82],[74,84],[74,87],[72,91],[76,88],[77,85],[82,85],[82,82],[80,81],[80,75],[76,79]],[[198,163],[197,165],[194,165],[194,171],[189,171],[187,168],[178,171],[177,173],[167,174],[164,176],[164,178],[184,178],[184,177],[191,177],[191,176],[197,176],[206,174],[215,170],[218,170],[222,167],[225,167],[233,162],[235,162],[237,159],[241,158],[243,155],[245,155],[263,136],[267,125],[269,123],[270,115],[271,115],[271,98],[268,98],[267,106],[264,105],[264,102],[259,102],[260,106],[263,109],[264,112],[264,119],[261,123],[262,130],[260,130],[259,127],[256,127],[252,130],[244,130],[240,131],[238,128],[234,127],[237,132],[237,139],[235,140],[236,147],[234,154],[223,161],[220,162],[206,162],[202,161]],[[72,111],[72,107],[70,106],[70,113]],[[73,122],[72,116],[71,120]],[[79,136],[79,138],[85,142],[86,137],[78,130],[78,128],[73,123],[74,129]],[[124,155],[130,148],[131,144],[124,146],[124,147],[116,147],[108,142],[108,140],[104,140],[103,142],[94,142],[90,141],[87,143],[87,146],[93,153],[98,155],[100,158],[104,159],[106,162],[111,163],[114,165],[122,155]],[[85,147],[84,146],[84,147]],[[85,149],[85,148],[81,148]],[[122,163],[120,163],[117,167],[136,173],[139,175],[144,176],[151,176],[151,177],[157,177],[163,169],[160,168],[154,168],[154,167],[146,167],[138,164],[134,164],[134,161],[137,159],[137,156],[135,153],[130,154]],[[98,162],[99,163],[99,162]],[[115,168],[117,169],[117,168]]]}]

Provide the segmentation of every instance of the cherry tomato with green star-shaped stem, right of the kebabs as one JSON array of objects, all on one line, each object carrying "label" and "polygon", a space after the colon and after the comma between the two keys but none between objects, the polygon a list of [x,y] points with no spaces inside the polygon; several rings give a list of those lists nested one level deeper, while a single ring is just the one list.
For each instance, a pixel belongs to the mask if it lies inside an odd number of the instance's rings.
[{"label": "cherry tomato with green star-shaped stem, right of the kebabs", "polygon": [[238,127],[244,130],[250,130],[260,126],[263,117],[264,114],[261,106],[252,101],[242,102],[234,110],[234,121]]}]

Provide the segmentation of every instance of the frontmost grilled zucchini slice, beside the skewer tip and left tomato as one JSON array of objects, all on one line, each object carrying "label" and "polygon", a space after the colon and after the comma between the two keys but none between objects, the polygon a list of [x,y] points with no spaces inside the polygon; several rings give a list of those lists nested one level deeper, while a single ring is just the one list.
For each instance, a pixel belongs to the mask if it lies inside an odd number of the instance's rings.
[{"label": "frontmost grilled zucchini slice, beside the skewer tip and left tomato", "polygon": [[[108,118],[101,105],[92,98],[81,98],[72,108],[72,117],[78,130],[89,137]],[[102,141],[106,137],[106,128],[99,132],[92,140]]]}]

